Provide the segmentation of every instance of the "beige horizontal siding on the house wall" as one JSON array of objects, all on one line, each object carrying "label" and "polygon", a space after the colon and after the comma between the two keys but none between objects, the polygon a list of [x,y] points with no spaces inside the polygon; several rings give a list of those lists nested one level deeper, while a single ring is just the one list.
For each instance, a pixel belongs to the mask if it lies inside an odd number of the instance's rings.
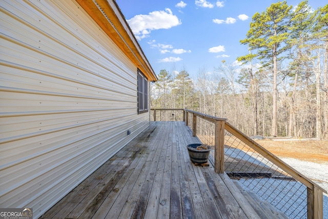
[{"label": "beige horizontal siding on the house wall", "polygon": [[0,207],[37,218],[149,113],[137,114],[137,67],[76,2],[0,6]]}]

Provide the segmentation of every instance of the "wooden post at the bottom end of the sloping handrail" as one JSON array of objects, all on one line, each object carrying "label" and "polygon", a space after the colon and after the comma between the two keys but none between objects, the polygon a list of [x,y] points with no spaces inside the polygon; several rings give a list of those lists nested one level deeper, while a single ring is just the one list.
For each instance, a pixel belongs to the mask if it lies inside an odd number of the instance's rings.
[{"label": "wooden post at the bottom end of the sloping handrail", "polygon": [[308,218],[309,219],[322,219],[323,218],[323,192],[313,187],[313,190],[308,187]]}]

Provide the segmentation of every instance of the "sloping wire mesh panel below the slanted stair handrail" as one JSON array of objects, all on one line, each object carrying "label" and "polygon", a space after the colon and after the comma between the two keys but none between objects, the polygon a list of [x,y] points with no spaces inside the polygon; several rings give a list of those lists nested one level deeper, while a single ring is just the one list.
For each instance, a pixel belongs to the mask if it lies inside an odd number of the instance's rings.
[{"label": "sloping wire mesh panel below the slanted stair handrail", "polygon": [[306,218],[307,188],[226,130],[224,169],[290,218]]}]

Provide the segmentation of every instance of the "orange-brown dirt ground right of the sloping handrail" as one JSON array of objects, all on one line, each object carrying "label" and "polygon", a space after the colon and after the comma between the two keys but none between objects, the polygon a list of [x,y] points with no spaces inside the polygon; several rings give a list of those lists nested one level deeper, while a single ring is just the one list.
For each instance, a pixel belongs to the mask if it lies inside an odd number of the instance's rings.
[{"label": "orange-brown dirt ground right of the sloping handrail", "polygon": [[327,140],[257,140],[256,142],[278,157],[291,157],[319,164],[328,162]]}]

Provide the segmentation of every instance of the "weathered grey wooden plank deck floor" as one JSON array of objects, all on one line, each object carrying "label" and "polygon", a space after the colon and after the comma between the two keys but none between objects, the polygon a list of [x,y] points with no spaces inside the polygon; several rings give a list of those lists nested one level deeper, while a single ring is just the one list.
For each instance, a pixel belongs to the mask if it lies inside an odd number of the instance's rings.
[{"label": "weathered grey wooden plank deck floor", "polygon": [[284,217],[262,210],[211,164],[192,164],[192,143],[199,140],[185,123],[152,122],[42,218]]}]

